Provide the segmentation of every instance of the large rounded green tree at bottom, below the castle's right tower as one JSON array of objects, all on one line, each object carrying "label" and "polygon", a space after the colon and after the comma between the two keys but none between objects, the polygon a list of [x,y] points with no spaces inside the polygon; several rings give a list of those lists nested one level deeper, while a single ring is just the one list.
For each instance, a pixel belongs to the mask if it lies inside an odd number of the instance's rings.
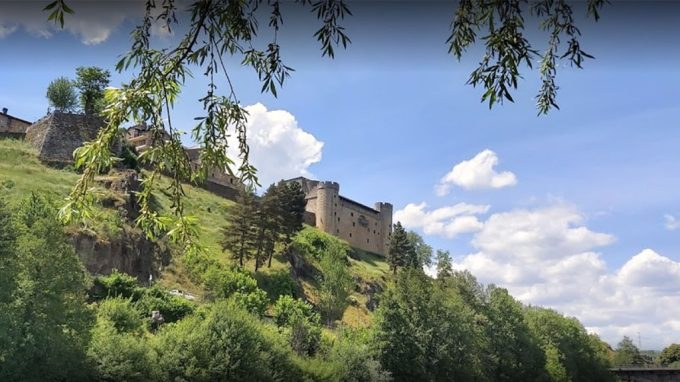
[{"label": "large rounded green tree at bottom, below the castle's right tower", "polygon": [[474,314],[423,272],[404,269],[380,300],[374,346],[395,381],[480,377]]}]

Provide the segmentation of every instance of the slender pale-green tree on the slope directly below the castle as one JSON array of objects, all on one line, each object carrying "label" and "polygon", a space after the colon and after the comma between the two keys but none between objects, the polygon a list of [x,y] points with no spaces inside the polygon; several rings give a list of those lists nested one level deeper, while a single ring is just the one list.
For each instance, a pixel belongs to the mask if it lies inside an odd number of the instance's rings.
[{"label": "slender pale-green tree on the slope directly below the castle", "polygon": [[354,279],[349,272],[347,251],[343,246],[331,245],[319,262],[319,310],[328,325],[339,319],[348,304],[354,287]]}]

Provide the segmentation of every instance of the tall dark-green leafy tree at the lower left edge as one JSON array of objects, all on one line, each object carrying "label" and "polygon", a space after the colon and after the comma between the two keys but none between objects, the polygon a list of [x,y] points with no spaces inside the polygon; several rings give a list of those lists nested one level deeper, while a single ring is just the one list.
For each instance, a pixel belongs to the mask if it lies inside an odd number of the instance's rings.
[{"label": "tall dark-green leafy tree at the lower left edge", "polygon": [[56,210],[32,194],[20,206],[16,229],[17,287],[11,296],[9,349],[0,349],[0,380],[85,377],[93,315],[85,304],[88,278]]}]

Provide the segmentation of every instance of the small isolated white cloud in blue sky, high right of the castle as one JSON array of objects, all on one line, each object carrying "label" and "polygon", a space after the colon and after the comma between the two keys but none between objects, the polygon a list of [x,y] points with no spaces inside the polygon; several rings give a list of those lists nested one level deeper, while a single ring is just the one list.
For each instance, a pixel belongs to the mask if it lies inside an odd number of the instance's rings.
[{"label": "small isolated white cloud in blue sky, high right of the castle", "polygon": [[474,158],[464,160],[444,175],[435,186],[438,196],[447,195],[451,187],[459,186],[467,190],[484,188],[503,188],[517,184],[517,177],[510,171],[496,172],[498,156],[491,150],[484,150]]}]

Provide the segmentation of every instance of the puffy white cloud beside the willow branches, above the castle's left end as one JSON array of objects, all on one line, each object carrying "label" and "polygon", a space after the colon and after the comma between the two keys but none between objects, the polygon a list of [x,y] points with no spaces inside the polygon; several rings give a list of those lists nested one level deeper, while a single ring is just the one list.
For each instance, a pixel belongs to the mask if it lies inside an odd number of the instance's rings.
[{"label": "puffy white cloud beside the willow branches, above the castle's left end", "polygon": [[[250,162],[260,184],[267,187],[281,179],[311,177],[309,167],[321,160],[323,142],[298,126],[285,110],[267,110],[261,103],[246,106]],[[229,155],[238,156],[236,138],[230,138]]]}]

